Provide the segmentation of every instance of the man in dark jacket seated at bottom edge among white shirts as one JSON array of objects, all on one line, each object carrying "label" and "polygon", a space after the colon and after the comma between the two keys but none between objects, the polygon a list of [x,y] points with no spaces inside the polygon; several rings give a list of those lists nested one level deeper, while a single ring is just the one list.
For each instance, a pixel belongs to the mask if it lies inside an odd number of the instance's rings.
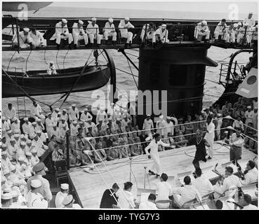
[{"label": "man in dark jacket seated at bottom edge among white shirts", "polygon": [[102,200],[100,202],[101,209],[112,209],[112,204],[117,205],[118,197],[116,196],[119,186],[114,183],[112,189],[106,189],[102,195]]}]

